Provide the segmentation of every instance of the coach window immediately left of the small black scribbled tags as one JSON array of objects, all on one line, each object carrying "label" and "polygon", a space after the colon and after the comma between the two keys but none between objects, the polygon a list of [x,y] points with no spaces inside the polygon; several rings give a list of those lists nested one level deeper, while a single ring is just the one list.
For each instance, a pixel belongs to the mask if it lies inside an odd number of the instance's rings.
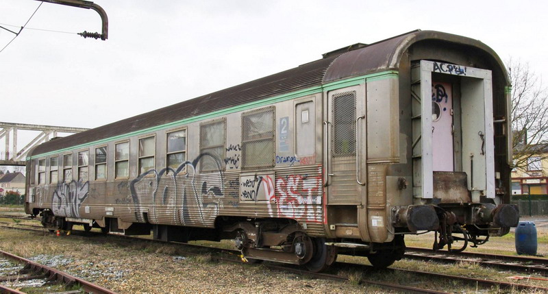
[{"label": "coach window immediately left of the small black scribbled tags", "polygon": [[225,119],[200,125],[200,171],[225,169],[225,134]]}]

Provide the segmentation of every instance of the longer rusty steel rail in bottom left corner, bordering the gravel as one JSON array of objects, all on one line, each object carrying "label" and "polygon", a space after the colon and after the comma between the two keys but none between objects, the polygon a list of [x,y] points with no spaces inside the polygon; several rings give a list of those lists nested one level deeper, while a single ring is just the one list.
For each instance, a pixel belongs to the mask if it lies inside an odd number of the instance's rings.
[{"label": "longer rusty steel rail in bottom left corner, bordering the gravel", "polygon": [[5,256],[6,258],[10,258],[12,260],[16,260],[17,262],[21,262],[25,264],[25,269],[30,269],[32,271],[45,273],[49,276],[49,280],[58,280],[59,282],[64,282],[67,284],[80,284],[82,286],[82,289],[87,292],[92,292],[94,294],[116,294],[116,292],[106,289],[103,286],[99,286],[97,284],[93,284],[91,282],[88,282],[84,279],[77,278],[74,275],[69,275],[69,273],[65,273],[63,271],[59,271],[58,269],[53,269],[53,267],[48,267],[46,265],[40,265],[38,262],[34,262],[32,260],[28,260],[26,258],[22,258],[21,256],[16,256],[14,254],[10,254],[9,252],[5,252],[0,250],[0,254],[2,256]]}]

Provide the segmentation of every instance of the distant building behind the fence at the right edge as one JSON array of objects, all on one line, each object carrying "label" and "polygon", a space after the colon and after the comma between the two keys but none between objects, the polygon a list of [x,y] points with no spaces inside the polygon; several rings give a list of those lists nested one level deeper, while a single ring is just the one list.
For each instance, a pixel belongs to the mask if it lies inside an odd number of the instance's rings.
[{"label": "distant building behind the fence at the right edge", "polygon": [[523,166],[512,169],[512,195],[548,195],[548,146],[534,145]]}]

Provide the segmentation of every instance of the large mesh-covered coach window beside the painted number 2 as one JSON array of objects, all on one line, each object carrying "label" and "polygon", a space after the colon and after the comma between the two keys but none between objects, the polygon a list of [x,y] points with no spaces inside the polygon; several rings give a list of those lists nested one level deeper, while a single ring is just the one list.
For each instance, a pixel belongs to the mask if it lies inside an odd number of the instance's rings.
[{"label": "large mesh-covered coach window beside the painted number 2", "polygon": [[274,166],[275,108],[242,114],[242,169]]}]

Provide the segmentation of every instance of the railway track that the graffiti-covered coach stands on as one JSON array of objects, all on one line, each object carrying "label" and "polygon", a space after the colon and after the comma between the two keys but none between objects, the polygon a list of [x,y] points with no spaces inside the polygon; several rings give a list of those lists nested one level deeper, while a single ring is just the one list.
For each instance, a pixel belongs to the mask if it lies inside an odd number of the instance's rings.
[{"label": "railway track that the graffiti-covered coach stands on", "polygon": [[[4,227],[3,225],[0,225],[1,227]],[[30,226],[35,228],[29,228]],[[47,232],[44,228],[40,228],[38,226],[33,225],[27,225],[27,228],[17,228],[13,226],[5,227],[5,228],[11,228],[16,230],[31,230],[31,231],[38,231],[38,232]],[[123,240],[132,240],[132,241],[147,241],[151,243],[170,243],[170,242],[164,242],[164,241],[158,241],[158,240],[152,240],[148,238],[138,238],[138,237],[132,237],[132,236],[123,236],[123,235],[116,235],[116,234],[102,234],[100,232],[84,232],[80,230],[73,230],[72,235],[79,236],[79,237],[89,237],[89,236],[95,236],[95,235],[103,235],[108,238],[116,238],[116,239],[123,239]],[[173,243],[173,242],[171,242]],[[195,245],[195,244],[188,244],[188,243],[177,243],[182,244],[188,248],[194,248],[194,249],[206,249],[209,252],[215,252],[216,255],[212,256],[212,259],[219,260],[223,262],[242,262],[240,258],[240,252],[234,250],[234,249],[225,249],[225,248],[219,248],[219,247],[210,247],[206,245]],[[195,255],[196,252],[185,252],[188,255]],[[229,256],[227,258],[227,256]],[[286,265],[270,265],[269,263],[263,264],[263,267],[269,267],[271,269],[275,270],[282,270],[282,271],[290,271],[292,273],[297,274],[304,274],[308,276],[314,276],[316,278],[322,278],[322,279],[328,279],[328,280],[341,280],[341,281],[348,281],[350,278],[344,275],[332,275],[327,273],[312,273],[310,271],[303,270],[300,267],[293,267],[293,266],[286,266]],[[355,269],[356,271],[360,272],[366,272],[371,273],[373,271],[379,271],[377,269],[373,269],[373,267],[369,265],[361,265],[351,262],[336,262],[334,264],[335,268],[338,269]],[[520,290],[526,290],[526,291],[545,291],[548,292],[548,288],[542,287],[542,286],[530,286],[527,284],[517,284],[517,283],[510,283],[510,282],[501,282],[496,280],[486,280],[482,278],[468,278],[461,275],[448,275],[443,273],[432,273],[427,271],[417,271],[417,270],[408,270],[408,269],[399,269],[395,267],[390,267],[389,269],[385,269],[383,271],[386,271],[388,275],[393,273],[406,273],[410,275],[419,275],[424,276],[427,278],[434,278],[434,279],[443,279],[443,280],[458,280],[466,284],[471,284],[472,286],[476,285],[482,285],[486,287],[497,287],[499,289],[520,289]],[[411,287],[411,286],[405,286],[401,284],[392,284],[392,283],[385,283],[385,282],[379,282],[375,280],[367,280],[362,279],[360,280],[361,284],[371,284],[374,286],[379,286],[384,289],[390,289],[393,291],[401,291],[406,293],[443,293],[440,291],[432,291],[429,289],[421,289],[417,287]]]}]

